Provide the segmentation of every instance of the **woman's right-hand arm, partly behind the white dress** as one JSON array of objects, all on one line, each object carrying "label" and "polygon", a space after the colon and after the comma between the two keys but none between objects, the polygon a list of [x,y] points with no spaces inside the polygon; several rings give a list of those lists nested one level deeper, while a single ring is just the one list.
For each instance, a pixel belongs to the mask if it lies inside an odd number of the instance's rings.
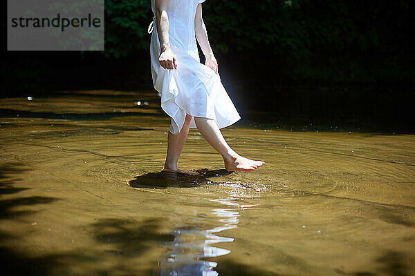
[{"label": "woman's right-hand arm, partly behind the white dress", "polygon": [[196,17],[194,18],[194,32],[196,33],[196,39],[201,46],[203,55],[205,55],[205,65],[212,68],[214,72],[218,72],[218,63],[213,55],[212,48],[210,47],[208,32],[206,30],[205,22],[202,18],[202,4],[196,8]]}]

